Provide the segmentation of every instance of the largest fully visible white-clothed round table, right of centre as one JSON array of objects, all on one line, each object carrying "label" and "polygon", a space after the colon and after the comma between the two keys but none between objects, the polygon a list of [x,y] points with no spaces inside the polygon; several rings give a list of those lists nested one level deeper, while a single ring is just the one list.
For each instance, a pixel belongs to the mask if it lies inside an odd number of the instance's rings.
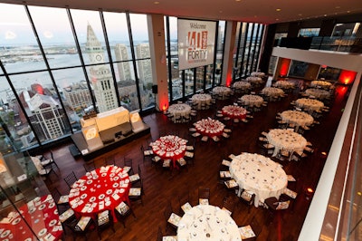
[{"label": "largest fully visible white-clothed round table, right of centre", "polygon": [[255,207],[266,198],[279,198],[288,184],[281,165],[259,154],[243,152],[233,157],[229,169],[240,188],[255,194]]}]

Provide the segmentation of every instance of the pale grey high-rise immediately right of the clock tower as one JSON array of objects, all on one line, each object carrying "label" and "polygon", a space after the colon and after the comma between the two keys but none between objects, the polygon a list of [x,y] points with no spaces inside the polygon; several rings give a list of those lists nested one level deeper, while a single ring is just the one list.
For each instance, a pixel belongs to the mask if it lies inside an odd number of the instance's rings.
[{"label": "pale grey high-rise immediately right of the clock tower", "polygon": [[116,55],[116,61],[125,61],[117,63],[119,71],[119,82],[127,82],[132,79],[129,67],[129,53],[127,52],[126,44],[117,43],[114,47],[114,53]]}]

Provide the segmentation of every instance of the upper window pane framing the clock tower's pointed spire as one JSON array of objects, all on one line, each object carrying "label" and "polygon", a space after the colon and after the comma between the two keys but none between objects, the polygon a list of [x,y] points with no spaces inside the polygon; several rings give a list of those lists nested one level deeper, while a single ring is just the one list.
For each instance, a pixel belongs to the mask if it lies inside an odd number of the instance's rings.
[{"label": "upper window pane framing the clock tower's pointed spire", "polygon": [[84,63],[109,62],[103,28],[100,24],[100,13],[97,11],[71,9],[71,17],[81,44]]}]

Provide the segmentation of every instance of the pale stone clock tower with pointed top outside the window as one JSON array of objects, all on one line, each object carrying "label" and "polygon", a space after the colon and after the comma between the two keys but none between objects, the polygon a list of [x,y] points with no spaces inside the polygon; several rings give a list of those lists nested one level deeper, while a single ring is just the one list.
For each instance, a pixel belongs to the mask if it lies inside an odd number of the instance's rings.
[{"label": "pale stone clock tower with pointed top outside the window", "polygon": [[[105,62],[101,43],[90,24],[87,26],[87,43],[85,47],[91,64]],[[98,110],[104,112],[119,107],[110,67],[107,64],[94,65],[90,67],[89,74]]]}]

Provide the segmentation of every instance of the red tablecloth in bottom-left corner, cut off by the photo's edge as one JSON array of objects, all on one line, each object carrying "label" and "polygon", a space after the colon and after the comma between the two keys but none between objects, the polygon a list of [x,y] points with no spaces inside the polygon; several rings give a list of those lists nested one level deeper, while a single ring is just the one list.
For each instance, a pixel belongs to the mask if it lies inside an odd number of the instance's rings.
[{"label": "red tablecloth in bottom-left corner, cut off by the photo's edge", "polygon": [[[27,205],[19,207],[19,211],[39,239],[59,240],[62,237],[62,224],[51,195],[34,198]],[[35,240],[24,219],[14,211],[3,218],[0,222],[0,240]]]}]

